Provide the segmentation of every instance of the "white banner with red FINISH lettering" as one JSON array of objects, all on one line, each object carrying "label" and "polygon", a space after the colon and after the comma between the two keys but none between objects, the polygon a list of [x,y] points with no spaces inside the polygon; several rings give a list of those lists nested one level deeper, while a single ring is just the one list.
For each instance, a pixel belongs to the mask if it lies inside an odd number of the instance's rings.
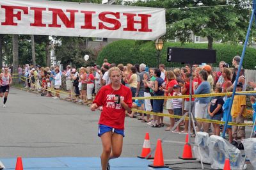
[{"label": "white banner with red FINISH lettering", "polygon": [[1,0],[0,34],[156,40],[165,10],[42,0]]}]

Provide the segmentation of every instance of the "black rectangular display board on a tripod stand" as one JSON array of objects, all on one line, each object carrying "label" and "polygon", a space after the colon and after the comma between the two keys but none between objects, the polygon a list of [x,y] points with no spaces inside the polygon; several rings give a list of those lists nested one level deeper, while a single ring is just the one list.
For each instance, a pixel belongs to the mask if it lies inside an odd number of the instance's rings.
[{"label": "black rectangular display board on a tripod stand", "polygon": [[216,50],[168,47],[167,61],[188,64],[216,63]]}]

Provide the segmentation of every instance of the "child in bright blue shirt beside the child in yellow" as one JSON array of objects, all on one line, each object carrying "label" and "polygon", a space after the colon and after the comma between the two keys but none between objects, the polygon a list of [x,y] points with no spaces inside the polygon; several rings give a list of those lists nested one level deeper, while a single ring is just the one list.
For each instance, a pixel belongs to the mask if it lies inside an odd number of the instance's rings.
[{"label": "child in bright blue shirt beside the child in yellow", "polygon": [[[233,91],[233,88],[230,87],[230,88],[227,88],[227,92],[232,92]],[[228,107],[229,107],[229,102],[231,100],[231,95],[228,95],[227,96],[227,99],[225,100],[225,103],[223,104],[223,121],[227,121],[228,119],[228,122],[232,122],[232,116],[229,115],[228,117]],[[228,141],[229,143],[232,143],[233,139],[232,139],[232,127],[231,125],[227,125],[227,132],[228,132]]]}]

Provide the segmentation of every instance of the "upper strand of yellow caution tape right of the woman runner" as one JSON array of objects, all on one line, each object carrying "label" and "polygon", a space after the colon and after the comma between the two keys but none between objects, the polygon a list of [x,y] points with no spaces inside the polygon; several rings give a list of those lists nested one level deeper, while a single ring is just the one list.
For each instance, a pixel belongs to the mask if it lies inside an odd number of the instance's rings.
[{"label": "upper strand of yellow caution tape right of the woman runner", "polygon": [[[238,94],[246,94],[246,93],[256,93],[256,91],[241,91]],[[192,95],[192,98],[200,98],[200,97],[221,97],[232,95],[232,92],[228,93],[209,93],[203,95]],[[256,95],[256,94],[255,94]],[[132,99],[170,99],[170,98],[189,98],[189,95],[182,95],[182,96],[161,96],[161,97],[132,97]]]}]

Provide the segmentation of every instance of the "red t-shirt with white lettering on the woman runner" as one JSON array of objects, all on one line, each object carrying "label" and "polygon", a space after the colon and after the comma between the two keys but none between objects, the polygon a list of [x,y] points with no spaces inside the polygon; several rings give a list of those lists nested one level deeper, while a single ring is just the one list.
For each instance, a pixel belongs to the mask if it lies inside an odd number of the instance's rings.
[{"label": "red t-shirt with white lettering on the woman runner", "polygon": [[114,102],[115,96],[119,95],[125,104],[132,107],[131,89],[121,84],[120,89],[114,90],[111,84],[103,86],[97,93],[93,103],[103,107],[100,114],[100,125],[106,125],[116,129],[124,129],[125,109],[121,104]]}]

